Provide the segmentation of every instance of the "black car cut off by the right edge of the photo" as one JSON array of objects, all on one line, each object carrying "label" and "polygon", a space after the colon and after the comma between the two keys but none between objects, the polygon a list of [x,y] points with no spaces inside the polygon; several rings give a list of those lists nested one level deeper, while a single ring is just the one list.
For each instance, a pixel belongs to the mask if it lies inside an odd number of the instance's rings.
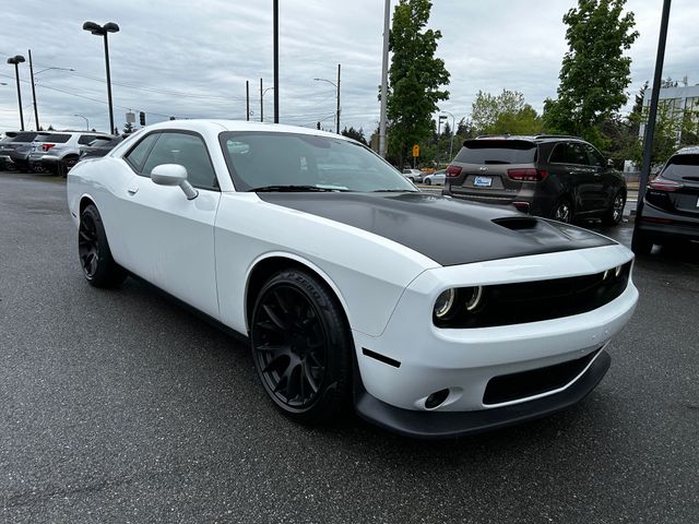
[{"label": "black car cut off by the right edge of the photo", "polygon": [[648,254],[654,243],[689,240],[699,240],[699,147],[679,150],[650,181],[631,249]]}]

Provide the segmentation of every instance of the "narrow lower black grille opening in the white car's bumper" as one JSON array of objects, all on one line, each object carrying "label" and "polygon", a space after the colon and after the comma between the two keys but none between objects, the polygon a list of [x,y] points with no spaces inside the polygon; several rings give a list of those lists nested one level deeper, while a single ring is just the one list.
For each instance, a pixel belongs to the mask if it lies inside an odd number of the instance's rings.
[{"label": "narrow lower black grille opening in the white car's bumper", "polygon": [[494,377],[485,388],[483,403],[501,404],[558,390],[578,377],[599,353],[600,349],[555,366]]}]

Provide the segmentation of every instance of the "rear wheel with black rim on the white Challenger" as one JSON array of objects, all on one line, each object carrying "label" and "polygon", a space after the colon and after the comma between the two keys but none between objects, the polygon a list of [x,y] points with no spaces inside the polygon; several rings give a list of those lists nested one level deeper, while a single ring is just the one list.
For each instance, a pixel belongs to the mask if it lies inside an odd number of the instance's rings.
[{"label": "rear wheel with black rim on the white Challenger", "polygon": [[94,204],[85,206],[78,228],[78,254],[85,279],[94,287],[118,287],[126,271],[111,258],[102,216]]}]

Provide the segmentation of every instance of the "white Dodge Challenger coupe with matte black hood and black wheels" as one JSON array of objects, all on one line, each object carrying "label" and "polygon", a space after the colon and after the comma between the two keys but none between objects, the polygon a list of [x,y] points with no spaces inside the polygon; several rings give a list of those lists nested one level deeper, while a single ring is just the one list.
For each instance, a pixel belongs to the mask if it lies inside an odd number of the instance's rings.
[{"label": "white Dodge Challenger coupe with matte black hood and black wheels", "polygon": [[248,336],[300,421],[354,406],[438,438],[545,416],[596,386],[638,300],[615,241],[420,192],[304,128],[151,126],[79,163],[68,203],[90,284],[135,275]]}]

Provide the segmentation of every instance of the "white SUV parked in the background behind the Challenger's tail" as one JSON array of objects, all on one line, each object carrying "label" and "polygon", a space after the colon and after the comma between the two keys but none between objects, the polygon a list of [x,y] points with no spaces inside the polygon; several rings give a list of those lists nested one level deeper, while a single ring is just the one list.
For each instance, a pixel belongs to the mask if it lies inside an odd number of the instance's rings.
[{"label": "white SUV parked in the background behind the Challenger's tail", "polygon": [[35,141],[34,151],[29,154],[29,167],[33,170],[48,170],[63,174],[70,170],[80,158],[80,146],[87,145],[97,139],[108,141],[109,134],[91,132],[52,132],[42,141]]}]

